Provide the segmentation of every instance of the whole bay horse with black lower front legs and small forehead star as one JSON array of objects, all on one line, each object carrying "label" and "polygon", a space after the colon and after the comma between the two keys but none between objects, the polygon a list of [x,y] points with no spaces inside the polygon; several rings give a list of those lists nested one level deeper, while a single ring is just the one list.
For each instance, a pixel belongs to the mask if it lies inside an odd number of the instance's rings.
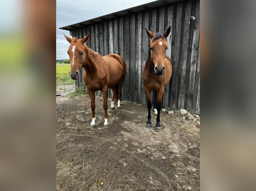
[{"label": "whole bay horse with black lower front legs and small forehead star", "polygon": [[151,115],[150,110],[151,104],[151,91],[155,92],[154,110],[157,113],[155,131],[161,131],[160,125],[160,110],[161,101],[164,92],[164,86],[170,81],[172,74],[171,60],[166,55],[168,44],[166,37],[169,35],[171,26],[166,31],[161,33],[153,34],[146,28],[147,35],[151,38],[150,47],[148,50],[148,58],[143,67],[143,83],[144,90],[147,97],[147,108],[148,108],[148,120],[146,122],[146,128],[151,128]]}]

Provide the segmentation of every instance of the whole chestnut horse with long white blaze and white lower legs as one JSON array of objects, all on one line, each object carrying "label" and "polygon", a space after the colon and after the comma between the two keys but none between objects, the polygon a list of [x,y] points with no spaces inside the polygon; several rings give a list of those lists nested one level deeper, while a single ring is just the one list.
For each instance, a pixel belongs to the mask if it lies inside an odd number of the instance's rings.
[{"label": "whole chestnut horse with long white blaze and white lower legs", "polygon": [[68,54],[70,58],[70,77],[78,80],[79,71],[84,68],[84,82],[87,92],[91,99],[92,122],[90,128],[94,129],[95,124],[95,92],[103,93],[103,108],[105,110],[105,122],[103,128],[109,127],[108,123],[108,89],[113,91],[111,108],[115,108],[114,100],[116,97],[117,108],[120,109],[121,89],[123,86],[126,64],[124,60],[116,54],[110,54],[102,57],[94,52],[85,43],[89,39],[89,34],[83,39],[73,37],[72,39],[64,34],[70,43]]}]

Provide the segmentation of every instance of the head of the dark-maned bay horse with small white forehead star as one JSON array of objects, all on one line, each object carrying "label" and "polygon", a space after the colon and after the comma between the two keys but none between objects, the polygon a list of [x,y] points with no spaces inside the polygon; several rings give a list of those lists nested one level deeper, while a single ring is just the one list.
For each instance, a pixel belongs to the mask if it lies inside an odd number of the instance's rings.
[{"label": "head of the dark-maned bay horse with small white forehead star", "polygon": [[161,33],[153,34],[146,28],[147,35],[151,38],[150,42],[150,60],[154,63],[154,70],[156,75],[162,75],[164,71],[164,59],[166,56],[166,50],[168,44],[165,38],[169,35],[171,26],[166,31]]}]

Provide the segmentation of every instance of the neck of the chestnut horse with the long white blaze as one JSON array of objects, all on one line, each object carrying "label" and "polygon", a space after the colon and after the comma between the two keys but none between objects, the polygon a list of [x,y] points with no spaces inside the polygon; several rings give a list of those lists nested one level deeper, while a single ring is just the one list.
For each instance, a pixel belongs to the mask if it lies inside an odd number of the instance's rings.
[{"label": "neck of the chestnut horse with the long white blaze", "polygon": [[[86,52],[86,59],[84,61],[83,67],[85,67],[85,70],[90,72],[90,74],[93,74],[94,72],[97,72],[97,65],[95,62],[96,58],[96,52],[94,52],[92,49],[90,49],[88,46],[85,46],[85,52]],[[87,64],[86,64],[87,63]]]}]

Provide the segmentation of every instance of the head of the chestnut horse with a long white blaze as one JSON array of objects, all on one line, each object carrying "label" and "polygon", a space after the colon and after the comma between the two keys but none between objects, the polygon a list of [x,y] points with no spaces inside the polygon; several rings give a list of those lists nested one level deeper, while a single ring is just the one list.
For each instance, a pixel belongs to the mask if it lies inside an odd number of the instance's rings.
[{"label": "head of the chestnut horse with a long white blaze", "polygon": [[70,43],[70,47],[68,49],[68,55],[70,59],[70,72],[69,75],[73,80],[78,80],[79,71],[82,69],[83,64],[86,58],[85,46],[89,39],[89,34],[85,36],[83,39],[78,39],[73,37],[72,39],[64,34],[67,41]]}]

